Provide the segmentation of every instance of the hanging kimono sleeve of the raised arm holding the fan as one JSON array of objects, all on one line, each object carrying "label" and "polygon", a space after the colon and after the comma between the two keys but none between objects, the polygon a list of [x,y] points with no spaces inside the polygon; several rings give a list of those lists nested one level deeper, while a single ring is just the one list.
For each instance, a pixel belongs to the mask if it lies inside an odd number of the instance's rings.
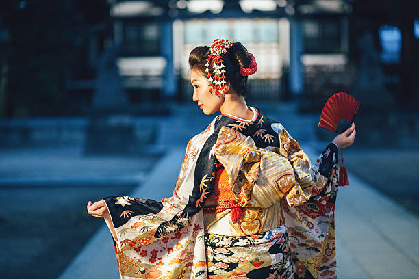
[{"label": "hanging kimono sleeve of the raised arm holding the fan", "polygon": [[329,144],[312,168],[316,196],[299,207],[283,207],[296,266],[294,278],[329,279],[337,276],[334,217],[338,190],[337,157],[335,144]]}]

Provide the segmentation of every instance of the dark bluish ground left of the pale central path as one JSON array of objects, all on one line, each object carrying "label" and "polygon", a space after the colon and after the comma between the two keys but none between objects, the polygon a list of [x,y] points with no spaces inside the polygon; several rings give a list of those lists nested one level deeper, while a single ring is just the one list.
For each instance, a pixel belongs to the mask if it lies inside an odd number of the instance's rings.
[{"label": "dark bluish ground left of the pale central path", "polygon": [[131,192],[157,159],[1,150],[0,278],[57,278],[102,224],[86,214],[88,200]]}]

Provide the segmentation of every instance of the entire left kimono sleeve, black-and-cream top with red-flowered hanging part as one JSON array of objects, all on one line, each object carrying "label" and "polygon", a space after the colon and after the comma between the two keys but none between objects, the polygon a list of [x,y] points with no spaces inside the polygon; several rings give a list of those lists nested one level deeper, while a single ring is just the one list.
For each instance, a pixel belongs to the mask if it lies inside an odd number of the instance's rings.
[{"label": "entire left kimono sleeve, black-and-cream top with red-flowered hanging part", "polygon": [[201,209],[214,187],[214,131],[212,122],[188,143],[170,198],[104,199],[112,220],[107,224],[117,236],[120,278],[207,278]]}]

